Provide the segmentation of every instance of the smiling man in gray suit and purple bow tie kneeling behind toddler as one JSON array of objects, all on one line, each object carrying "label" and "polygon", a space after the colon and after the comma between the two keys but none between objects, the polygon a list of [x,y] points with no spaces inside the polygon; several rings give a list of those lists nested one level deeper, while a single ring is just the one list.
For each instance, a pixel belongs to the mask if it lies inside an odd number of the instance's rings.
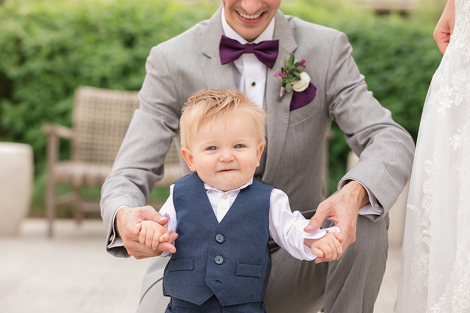
[{"label": "smiling man in gray suit and purple bow tie kneeling behind toddler", "polygon": [[[285,191],[292,210],[307,218],[316,210],[305,231],[335,221],[345,238],[343,255],[330,262],[300,261],[273,247],[267,312],[372,312],[387,259],[388,210],[409,179],[414,143],[367,90],[345,34],[285,16],[280,2],[222,0],[210,20],[151,49],[140,108],[102,187],[108,251],[136,259],[161,253],[140,244],[132,229],[142,220],[166,222],[145,205],[163,177],[181,107],[200,89],[238,88],[268,115],[267,149],[255,177]],[[281,84],[273,75],[284,53],[305,60],[311,81],[278,102]],[[323,149],[332,120],[360,161],[325,200]],[[168,260],[151,260],[138,312],[164,311]]]}]

